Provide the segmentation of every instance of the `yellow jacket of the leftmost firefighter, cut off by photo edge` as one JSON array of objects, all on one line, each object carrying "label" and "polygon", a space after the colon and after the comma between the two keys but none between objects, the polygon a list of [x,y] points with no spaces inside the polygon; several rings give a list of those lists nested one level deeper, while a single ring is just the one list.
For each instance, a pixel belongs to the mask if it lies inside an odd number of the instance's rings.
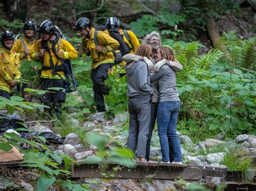
[{"label": "yellow jacket of the leftmost firefighter, cut off by photo edge", "polygon": [[0,89],[11,93],[11,81],[21,79],[19,54],[6,48],[0,48],[0,54]]}]

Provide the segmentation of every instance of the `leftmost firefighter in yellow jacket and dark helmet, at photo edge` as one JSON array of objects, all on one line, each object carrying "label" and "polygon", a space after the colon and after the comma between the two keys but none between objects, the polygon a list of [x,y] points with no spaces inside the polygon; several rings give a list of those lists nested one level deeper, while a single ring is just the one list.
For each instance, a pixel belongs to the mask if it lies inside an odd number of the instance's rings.
[{"label": "leftmost firefighter in yellow jacket and dark helmet, at photo edge", "polygon": [[10,93],[21,78],[19,71],[19,54],[11,51],[14,44],[14,34],[11,31],[3,31],[0,48],[0,96],[10,98]]}]

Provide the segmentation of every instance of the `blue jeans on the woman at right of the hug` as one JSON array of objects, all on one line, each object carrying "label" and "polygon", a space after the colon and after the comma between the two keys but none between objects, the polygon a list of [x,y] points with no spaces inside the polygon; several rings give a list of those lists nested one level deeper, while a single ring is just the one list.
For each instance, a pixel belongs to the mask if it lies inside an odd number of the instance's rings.
[{"label": "blue jeans on the woman at right of the hug", "polygon": [[182,161],[179,138],[176,132],[179,107],[180,101],[160,102],[158,105],[157,127],[164,162],[170,161],[168,138],[173,145],[174,161]]}]

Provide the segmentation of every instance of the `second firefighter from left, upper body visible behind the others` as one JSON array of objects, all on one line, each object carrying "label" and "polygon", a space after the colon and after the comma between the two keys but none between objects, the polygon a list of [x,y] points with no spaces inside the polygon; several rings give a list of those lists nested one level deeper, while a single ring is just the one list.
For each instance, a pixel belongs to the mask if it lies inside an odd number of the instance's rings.
[{"label": "second firefighter from left, upper body visible behind the others", "polygon": [[32,21],[28,21],[24,23],[23,26],[24,31],[24,37],[17,39],[14,42],[14,46],[12,46],[12,50],[19,53],[19,59],[28,58],[28,60],[31,60],[29,57],[29,52],[32,49],[32,46],[35,44],[35,38],[34,34],[36,31],[36,24]]}]

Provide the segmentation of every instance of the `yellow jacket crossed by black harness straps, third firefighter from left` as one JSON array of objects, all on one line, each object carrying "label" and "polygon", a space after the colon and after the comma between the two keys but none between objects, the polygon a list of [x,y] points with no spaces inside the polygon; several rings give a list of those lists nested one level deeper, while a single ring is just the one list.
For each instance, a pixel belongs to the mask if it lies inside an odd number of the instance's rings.
[{"label": "yellow jacket crossed by black harness straps, third firefighter from left", "polygon": [[[43,67],[51,67],[50,63],[50,54],[48,51],[44,52],[43,58],[40,58],[38,56],[38,53],[41,50],[41,43],[42,39],[39,39],[36,41],[35,46],[33,46],[32,50],[30,51],[29,55],[32,60],[39,60],[41,59]],[[56,50],[59,49],[59,58],[52,52],[52,44],[50,41],[47,41],[47,46],[50,49],[51,57],[52,57],[52,62],[54,66],[62,65],[62,60],[66,59],[76,59],[78,56],[78,53],[76,49],[65,39],[59,38],[58,42],[55,45]],[[62,71],[57,72],[58,75],[52,75],[52,70],[44,70],[42,69],[40,77],[44,79],[64,79],[65,74]],[[61,77],[60,77],[61,76]]]}]

